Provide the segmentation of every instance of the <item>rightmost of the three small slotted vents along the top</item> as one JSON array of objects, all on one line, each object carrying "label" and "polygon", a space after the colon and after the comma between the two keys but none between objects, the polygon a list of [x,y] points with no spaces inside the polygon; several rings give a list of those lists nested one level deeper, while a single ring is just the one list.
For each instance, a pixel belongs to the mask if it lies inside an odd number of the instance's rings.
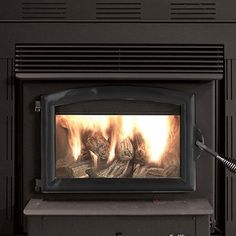
[{"label": "rightmost of the three small slotted vents along the top", "polygon": [[174,1],[170,5],[172,20],[214,20],[216,19],[215,2]]}]

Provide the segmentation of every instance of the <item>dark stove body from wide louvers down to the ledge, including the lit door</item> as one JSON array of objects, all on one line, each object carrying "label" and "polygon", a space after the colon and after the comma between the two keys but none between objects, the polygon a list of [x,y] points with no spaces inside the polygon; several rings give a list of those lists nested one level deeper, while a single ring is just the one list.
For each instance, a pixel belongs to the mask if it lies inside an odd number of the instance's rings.
[{"label": "dark stove body from wide louvers down to the ledge, including the lit door", "polygon": [[[214,160],[206,153],[197,160],[195,125],[214,147],[223,50],[201,44],[16,45],[18,204],[24,202],[18,207],[23,211],[31,198],[204,197],[213,204]],[[17,222],[26,230],[25,217],[19,214]]]}]

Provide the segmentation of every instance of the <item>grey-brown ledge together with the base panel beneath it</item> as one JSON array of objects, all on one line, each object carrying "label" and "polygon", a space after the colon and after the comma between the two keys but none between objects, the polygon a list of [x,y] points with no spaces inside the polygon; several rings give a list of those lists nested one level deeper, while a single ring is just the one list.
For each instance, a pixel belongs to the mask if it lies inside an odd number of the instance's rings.
[{"label": "grey-brown ledge together with the base panel beneath it", "polygon": [[31,199],[29,236],[209,236],[212,207],[186,201],[45,201]]}]

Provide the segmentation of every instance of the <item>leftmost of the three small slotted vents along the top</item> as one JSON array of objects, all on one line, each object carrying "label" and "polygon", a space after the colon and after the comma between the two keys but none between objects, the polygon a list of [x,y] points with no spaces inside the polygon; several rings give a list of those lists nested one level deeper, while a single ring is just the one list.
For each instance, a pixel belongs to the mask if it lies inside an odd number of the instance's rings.
[{"label": "leftmost of the three small slotted vents along the top", "polygon": [[65,2],[23,2],[22,18],[30,20],[65,19],[67,4]]}]

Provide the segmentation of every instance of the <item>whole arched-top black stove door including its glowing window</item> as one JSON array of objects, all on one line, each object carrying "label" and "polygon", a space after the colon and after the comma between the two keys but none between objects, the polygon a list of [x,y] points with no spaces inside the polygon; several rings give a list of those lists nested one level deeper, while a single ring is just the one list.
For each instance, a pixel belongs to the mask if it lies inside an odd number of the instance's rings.
[{"label": "whole arched-top black stove door including its glowing window", "polygon": [[195,189],[193,94],[89,87],[40,106],[44,192]]}]

